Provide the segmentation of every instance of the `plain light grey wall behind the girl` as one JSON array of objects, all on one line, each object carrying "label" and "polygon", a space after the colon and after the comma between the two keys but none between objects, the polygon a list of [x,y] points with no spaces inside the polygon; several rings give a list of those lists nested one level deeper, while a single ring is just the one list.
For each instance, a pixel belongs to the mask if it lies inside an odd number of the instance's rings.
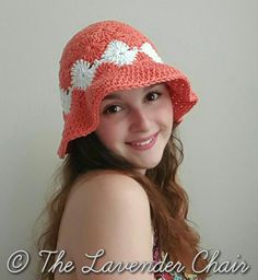
[{"label": "plain light grey wall behind the girl", "polygon": [[[258,2],[247,1],[1,1],[0,8],[0,270],[1,279],[34,279],[35,219],[50,192],[62,117],[58,62],[68,39],[98,20],[141,30],[163,60],[183,70],[200,97],[180,126],[181,182],[190,219],[220,261],[242,255],[257,279]],[[7,271],[16,249],[28,269]]]}]

